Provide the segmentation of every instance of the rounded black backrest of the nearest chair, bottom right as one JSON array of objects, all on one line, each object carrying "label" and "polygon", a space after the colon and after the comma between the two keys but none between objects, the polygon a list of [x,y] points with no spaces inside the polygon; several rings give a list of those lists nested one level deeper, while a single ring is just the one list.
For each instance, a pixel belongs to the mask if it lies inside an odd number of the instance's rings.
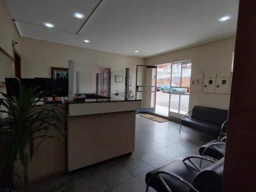
[{"label": "rounded black backrest of the nearest chair, bottom right", "polygon": [[193,186],[200,192],[221,192],[223,166],[224,157],[211,166],[202,169],[194,179]]}]

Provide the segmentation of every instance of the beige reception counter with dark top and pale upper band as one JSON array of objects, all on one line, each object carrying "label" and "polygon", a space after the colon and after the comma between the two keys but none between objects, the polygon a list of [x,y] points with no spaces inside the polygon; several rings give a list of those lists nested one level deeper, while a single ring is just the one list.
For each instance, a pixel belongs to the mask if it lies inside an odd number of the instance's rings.
[{"label": "beige reception counter with dark top and pale upper band", "polygon": [[67,101],[67,170],[133,152],[136,110],[140,108],[141,100]]}]

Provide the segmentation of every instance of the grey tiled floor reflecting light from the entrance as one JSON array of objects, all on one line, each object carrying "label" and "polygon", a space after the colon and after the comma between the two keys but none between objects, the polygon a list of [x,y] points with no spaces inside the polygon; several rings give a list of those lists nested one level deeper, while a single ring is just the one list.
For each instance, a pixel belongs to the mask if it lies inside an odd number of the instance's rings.
[{"label": "grey tiled floor reflecting light from the entrance", "polygon": [[[198,155],[198,148],[212,140],[210,136],[169,121],[158,123],[136,117],[135,152],[76,172],[66,173],[31,185],[31,191],[53,191],[66,185],[66,191],[106,192],[145,191],[145,174],[174,159]],[[155,191],[151,189],[150,191]]]}]

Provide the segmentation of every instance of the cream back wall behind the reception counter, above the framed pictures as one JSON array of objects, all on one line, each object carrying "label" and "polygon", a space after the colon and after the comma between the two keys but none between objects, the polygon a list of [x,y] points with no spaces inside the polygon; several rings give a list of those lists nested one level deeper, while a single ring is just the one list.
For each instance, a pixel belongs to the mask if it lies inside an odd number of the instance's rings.
[{"label": "cream back wall behind the reception counter, above the framed pictures", "polygon": [[[84,65],[90,63],[112,66],[114,68],[130,68],[130,76],[132,77],[131,89],[135,91],[136,65],[144,65],[144,59],[141,58],[76,48],[23,37],[20,38],[20,42],[22,76],[24,78],[51,77],[51,67],[68,68],[68,61],[73,60],[75,63],[83,63]],[[113,82],[112,87],[114,88],[115,86],[116,83]],[[121,90],[121,87],[120,92],[124,91],[124,89]]]}]

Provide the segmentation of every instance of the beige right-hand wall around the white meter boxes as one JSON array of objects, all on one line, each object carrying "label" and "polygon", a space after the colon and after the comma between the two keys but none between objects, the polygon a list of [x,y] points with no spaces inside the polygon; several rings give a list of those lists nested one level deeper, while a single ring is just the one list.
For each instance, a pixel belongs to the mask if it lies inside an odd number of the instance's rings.
[{"label": "beige right-hand wall around the white meter boxes", "polygon": [[[152,66],[192,59],[192,77],[200,72],[203,72],[204,74],[230,73],[235,40],[235,37],[231,37],[209,44],[147,58],[146,65]],[[191,111],[194,105],[228,109],[229,98],[229,94],[206,94],[203,92],[191,91],[189,111]]]}]

